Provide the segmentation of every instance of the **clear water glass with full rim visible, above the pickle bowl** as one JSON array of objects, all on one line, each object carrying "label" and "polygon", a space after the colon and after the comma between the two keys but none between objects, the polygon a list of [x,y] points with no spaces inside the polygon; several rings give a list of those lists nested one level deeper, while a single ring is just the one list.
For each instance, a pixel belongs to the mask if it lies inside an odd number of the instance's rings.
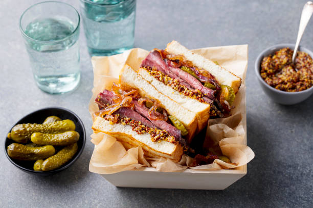
[{"label": "clear water glass with full rim visible, above the pickle bowl", "polygon": [[28,8],[19,20],[37,86],[59,94],[80,81],[77,10],[61,2],[42,2]]}]

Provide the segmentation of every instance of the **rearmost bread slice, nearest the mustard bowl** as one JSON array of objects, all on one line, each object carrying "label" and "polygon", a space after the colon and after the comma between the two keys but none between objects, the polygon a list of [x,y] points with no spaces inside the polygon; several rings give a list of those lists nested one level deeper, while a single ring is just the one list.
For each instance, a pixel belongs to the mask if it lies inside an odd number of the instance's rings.
[{"label": "rearmost bread slice, nearest the mustard bowl", "polygon": [[228,85],[234,89],[235,93],[238,92],[241,85],[241,79],[227,69],[215,64],[213,61],[210,61],[203,56],[193,53],[175,40],[168,43],[165,50],[170,54],[185,56],[187,60],[191,61],[198,68],[203,68],[209,71],[215,76],[219,84]]}]

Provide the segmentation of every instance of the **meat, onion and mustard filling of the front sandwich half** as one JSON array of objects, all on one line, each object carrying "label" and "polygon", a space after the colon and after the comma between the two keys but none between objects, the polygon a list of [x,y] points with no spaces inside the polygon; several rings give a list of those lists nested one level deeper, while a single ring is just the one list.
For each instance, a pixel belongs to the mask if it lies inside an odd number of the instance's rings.
[{"label": "meat, onion and mustard filling of the front sandwich half", "polygon": [[188,134],[184,125],[177,119],[173,122],[174,117],[157,101],[140,97],[137,90],[126,92],[114,85],[112,91],[100,92],[95,102],[100,109],[96,115],[111,123],[130,125],[137,134],[149,134],[153,142],[164,140],[187,146],[182,137]]}]

